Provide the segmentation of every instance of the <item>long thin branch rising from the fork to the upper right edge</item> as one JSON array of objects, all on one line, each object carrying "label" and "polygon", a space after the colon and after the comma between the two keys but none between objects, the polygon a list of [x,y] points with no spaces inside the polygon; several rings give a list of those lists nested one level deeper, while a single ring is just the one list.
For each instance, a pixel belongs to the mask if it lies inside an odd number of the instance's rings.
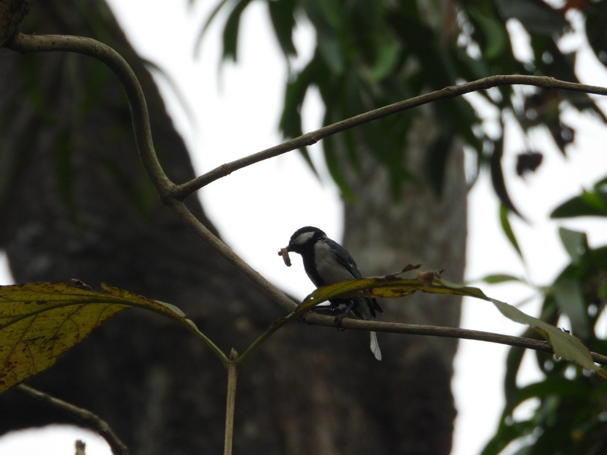
[{"label": "long thin branch rising from the fork to the upper right edge", "polygon": [[465,93],[476,92],[478,90],[486,90],[491,87],[510,86],[510,85],[526,85],[543,87],[544,89],[561,89],[570,90],[573,92],[595,93],[597,95],[607,95],[607,88],[599,86],[588,86],[585,84],[577,84],[568,81],[561,81],[549,76],[526,76],[526,75],[497,75],[487,78],[478,79],[469,83],[458,86],[449,86],[435,92],[424,93],[424,95],[415,96],[414,98],[398,101],[398,103],[388,104],[388,106],[380,107],[379,109],[370,110],[346,120],[333,123],[322,127],[302,136],[286,141],[261,152],[253,153],[248,157],[240,158],[239,160],[231,161],[230,163],[222,164],[213,170],[200,177],[194,178],[186,183],[180,184],[174,189],[174,197],[183,199],[192,194],[203,186],[212,183],[219,178],[231,174],[235,170],[242,169],[250,164],[259,163],[268,158],[273,158],[282,153],[291,152],[291,150],[300,149],[301,147],[310,146],[317,141],[331,136],[335,133],[353,128],[355,126],[368,123],[378,118],[382,118],[393,113],[402,112],[403,110],[412,109],[413,107],[421,106],[422,104],[432,103],[439,99],[455,98],[456,96],[464,95]]}]

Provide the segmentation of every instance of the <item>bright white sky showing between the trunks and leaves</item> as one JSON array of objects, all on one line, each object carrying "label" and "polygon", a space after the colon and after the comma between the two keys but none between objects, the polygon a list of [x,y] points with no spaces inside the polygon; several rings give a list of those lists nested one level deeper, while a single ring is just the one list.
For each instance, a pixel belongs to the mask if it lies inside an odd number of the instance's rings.
[{"label": "bright white sky showing between the trunks and leaves", "polygon": [[[198,0],[192,10],[186,8],[186,3],[185,0],[110,1],[113,7],[119,8],[118,18],[135,47],[175,80],[185,95],[188,108],[194,112],[192,125],[183,108],[175,101],[174,93],[160,76],[158,80],[168,99],[169,109],[178,129],[186,137],[200,174],[280,142],[276,125],[287,73],[274,37],[266,25],[265,8],[253,2],[242,22],[239,63],[236,66],[226,64],[219,83],[217,24],[209,30],[201,55],[198,59],[193,58],[198,30],[208,16],[209,7],[216,2]],[[143,9],[146,14],[141,16]],[[145,19],[141,20],[141,17]],[[162,26],[158,27],[158,24]],[[171,33],[161,34],[158,30],[170,30]],[[311,50],[310,37],[309,29],[300,30],[296,36],[304,62]],[[572,40],[571,45],[578,45],[578,42]],[[593,62],[589,52],[578,56],[578,64],[585,68],[583,82],[607,86],[605,71]],[[305,131],[320,126],[322,108],[317,97],[310,97],[304,113]],[[589,187],[607,174],[607,158],[603,151],[607,140],[605,131],[585,116],[571,115],[568,122],[576,129],[576,144],[569,148],[567,159],[554,151],[544,155],[544,163],[537,174],[526,180],[514,177],[514,171],[507,176],[514,203],[529,220],[529,223],[524,223],[512,219],[526,265],[521,263],[501,232],[497,198],[487,178],[481,178],[470,192],[468,279],[504,272],[526,276],[537,285],[550,283],[567,258],[558,241],[559,226],[588,232],[591,246],[607,243],[605,226],[598,221],[547,221],[549,212],[558,203],[578,194],[583,186]],[[538,132],[532,136],[531,146],[540,148],[546,141],[546,135]],[[504,169],[513,170],[515,153],[529,145],[521,141],[517,132],[510,133],[506,141]],[[311,147],[311,152],[315,162],[322,167],[320,146]],[[341,237],[341,205],[337,190],[326,175],[319,183],[297,152],[291,152],[234,172],[200,193],[209,217],[241,257],[282,289],[297,297],[308,294],[311,284],[305,277],[299,258],[293,257],[294,266],[286,268],[276,251],[287,243],[298,227],[308,224],[321,227],[330,237]],[[9,283],[10,277],[2,275],[0,269],[0,284]],[[531,290],[522,286],[481,287],[487,295],[513,304],[532,295]],[[526,304],[522,307],[530,314],[534,314],[534,308],[537,308],[537,303],[535,306]],[[505,320],[486,302],[478,300],[464,302],[461,326],[514,335],[524,329]],[[506,352],[505,346],[466,340],[460,342],[453,379],[458,407],[453,455],[478,453],[495,430],[503,406],[502,381]],[[389,356],[390,353],[385,352],[384,355]],[[525,365],[523,380],[528,382],[537,377],[537,372],[529,356]],[[61,437],[58,437],[59,433]],[[0,438],[0,453],[31,455],[40,453],[40,447],[44,447],[47,455],[71,454],[76,438],[84,439],[87,443],[87,455],[110,453],[103,440],[98,442],[98,437],[89,433],[76,435],[72,430],[64,433],[53,427],[44,432],[38,431],[35,433],[38,436],[32,434],[29,431],[25,436]]]}]

